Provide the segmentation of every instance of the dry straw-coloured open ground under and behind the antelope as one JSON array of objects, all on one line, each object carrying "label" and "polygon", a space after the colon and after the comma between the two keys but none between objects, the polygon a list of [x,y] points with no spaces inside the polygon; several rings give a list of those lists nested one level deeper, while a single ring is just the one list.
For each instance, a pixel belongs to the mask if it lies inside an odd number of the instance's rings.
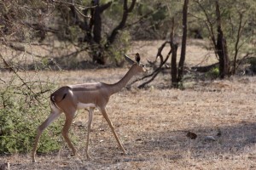
[{"label": "dry straw-coloured open ground under and behind the antelope", "polygon": [[[141,50],[143,61],[148,55],[154,59],[159,43],[146,46],[133,48],[131,54]],[[198,46],[189,50],[195,50],[194,58],[188,57],[186,62],[189,66],[214,61]],[[113,83],[128,69],[41,74],[49,79],[58,77],[55,82],[61,86]],[[193,82],[184,90],[156,88],[154,83],[148,89],[123,88],[108,103],[108,115],[127,155],[119,150],[108,123],[96,111],[90,133],[91,160],[86,160],[88,113],[79,111],[71,127],[78,138],[75,146],[79,156],[70,156],[71,150],[63,142],[58,152],[37,155],[37,163],[32,163],[30,154],[1,156],[0,162],[9,162],[10,169],[256,169],[256,77]],[[189,139],[188,132],[197,138]]]}]

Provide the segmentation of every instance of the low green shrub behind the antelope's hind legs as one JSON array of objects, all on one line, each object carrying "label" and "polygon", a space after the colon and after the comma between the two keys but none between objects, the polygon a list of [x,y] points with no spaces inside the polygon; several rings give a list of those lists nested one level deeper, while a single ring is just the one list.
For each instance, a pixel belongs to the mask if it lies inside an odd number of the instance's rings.
[{"label": "low green shrub behind the antelope's hind legs", "polygon": [[[18,88],[13,84],[0,88],[0,153],[27,153],[32,150],[38,125],[49,116],[49,99],[46,97],[49,93],[41,93],[44,91],[42,84],[37,92],[38,87],[30,86],[33,93],[25,86]],[[50,87],[47,84],[43,88]],[[60,149],[62,142],[58,142],[58,138],[61,138],[61,124],[63,119],[44,130],[38,152]]]}]

